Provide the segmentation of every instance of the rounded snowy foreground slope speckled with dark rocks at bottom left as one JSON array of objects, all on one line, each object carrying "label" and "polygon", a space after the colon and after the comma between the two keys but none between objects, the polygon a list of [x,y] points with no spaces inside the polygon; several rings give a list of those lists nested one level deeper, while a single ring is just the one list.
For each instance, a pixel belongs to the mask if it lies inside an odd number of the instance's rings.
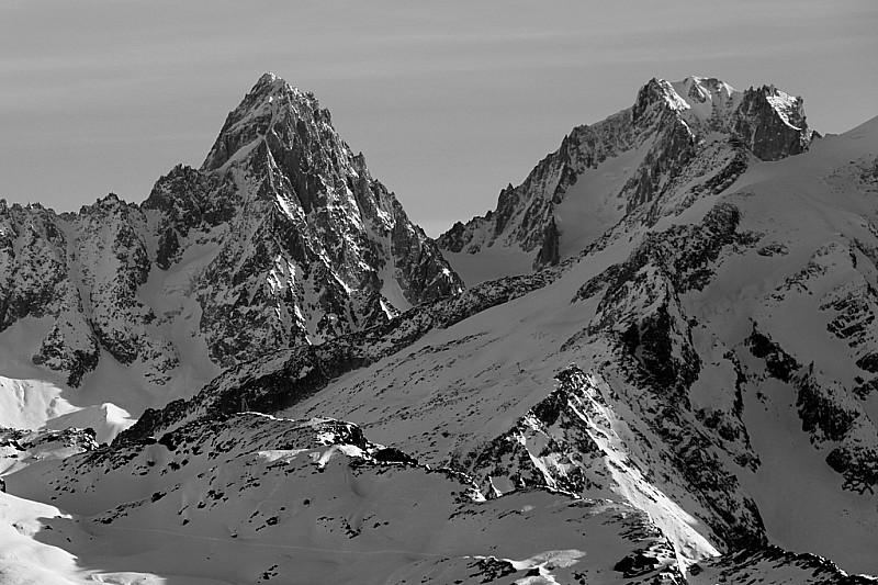
[{"label": "rounded snowy foreground slope speckled with dark rocks at bottom left", "polygon": [[485,502],[465,476],[328,419],[245,413],[145,449],[34,464],[9,485],[72,513],[29,527],[76,556],[79,571],[59,567],[75,582],[638,582],[614,569],[629,556],[677,574],[661,532],[628,505],[543,490]]}]

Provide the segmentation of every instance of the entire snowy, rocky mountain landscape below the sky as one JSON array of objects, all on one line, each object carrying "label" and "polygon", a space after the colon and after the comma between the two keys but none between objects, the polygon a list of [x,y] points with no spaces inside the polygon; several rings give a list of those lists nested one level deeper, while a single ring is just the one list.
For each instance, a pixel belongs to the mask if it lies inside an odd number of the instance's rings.
[{"label": "entire snowy, rocky mountain landscape below the sky", "polygon": [[437,244],[266,75],[2,217],[0,581],[878,583],[878,117],[652,79]]}]

